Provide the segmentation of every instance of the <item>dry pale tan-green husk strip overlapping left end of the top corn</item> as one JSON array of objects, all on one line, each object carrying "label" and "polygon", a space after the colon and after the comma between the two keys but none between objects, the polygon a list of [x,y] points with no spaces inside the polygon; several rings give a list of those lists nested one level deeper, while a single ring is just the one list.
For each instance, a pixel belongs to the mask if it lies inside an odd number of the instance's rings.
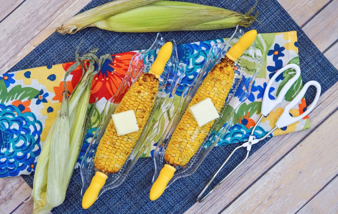
[{"label": "dry pale tan-green husk strip overlapping left end of the top corn", "polygon": [[88,27],[90,24],[101,19],[108,18],[115,14],[130,10],[132,8],[151,4],[160,0],[116,0],[93,9],[84,11],[72,17],[62,26],[56,28],[56,31],[62,34],[76,33],[77,31]]}]

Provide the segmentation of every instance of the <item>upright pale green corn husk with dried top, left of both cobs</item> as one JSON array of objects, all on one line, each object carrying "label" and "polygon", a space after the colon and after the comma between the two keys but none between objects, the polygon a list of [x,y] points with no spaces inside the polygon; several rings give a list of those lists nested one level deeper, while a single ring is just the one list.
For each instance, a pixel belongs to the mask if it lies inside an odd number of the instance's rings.
[{"label": "upright pale green corn husk with dried top, left of both cobs", "polygon": [[[94,49],[82,57],[79,57],[76,51],[76,62],[65,74],[64,83],[76,67],[81,65],[83,68],[83,77],[71,96],[66,100],[66,95],[64,95],[61,111],[52,124],[42,148],[33,182],[33,213],[48,213],[65,200],[66,190],[86,135],[89,118],[93,112],[91,110],[90,114],[87,114],[93,77],[106,59],[112,60],[110,55],[104,55],[98,59],[95,55],[96,51],[97,49]],[[89,60],[87,72],[84,72],[83,67],[85,60]],[[95,62],[99,65],[98,70],[94,70]],[[66,87],[65,91],[67,91]],[[95,107],[95,103],[92,108]],[[65,122],[65,112],[67,112],[68,126]],[[68,148],[59,148],[60,141],[63,141],[62,143]]]}]

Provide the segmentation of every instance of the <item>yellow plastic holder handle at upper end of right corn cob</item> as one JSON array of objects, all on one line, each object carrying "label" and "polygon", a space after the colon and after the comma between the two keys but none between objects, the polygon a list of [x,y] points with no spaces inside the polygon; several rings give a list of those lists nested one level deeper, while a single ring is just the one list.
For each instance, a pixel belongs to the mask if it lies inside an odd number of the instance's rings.
[{"label": "yellow plastic holder handle at upper end of right corn cob", "polygon": [[249,46],[254,43],[257,36],[256,30],[250,30],[243,34],[241,38],[234,44],[233,47],[225,54],[232,61],[236,61],[240,56],[242,56],[243,52],[249,48]]}]

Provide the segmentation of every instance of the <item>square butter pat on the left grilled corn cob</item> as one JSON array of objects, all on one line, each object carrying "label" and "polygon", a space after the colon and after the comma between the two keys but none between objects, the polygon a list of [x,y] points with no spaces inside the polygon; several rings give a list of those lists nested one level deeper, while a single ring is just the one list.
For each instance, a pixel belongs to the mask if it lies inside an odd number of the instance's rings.
[{"label": "square butter pat on the left grilled corn cob", "polygon": [[133,110],[113,114],[112,119],[118,136],[139,130]]}]

